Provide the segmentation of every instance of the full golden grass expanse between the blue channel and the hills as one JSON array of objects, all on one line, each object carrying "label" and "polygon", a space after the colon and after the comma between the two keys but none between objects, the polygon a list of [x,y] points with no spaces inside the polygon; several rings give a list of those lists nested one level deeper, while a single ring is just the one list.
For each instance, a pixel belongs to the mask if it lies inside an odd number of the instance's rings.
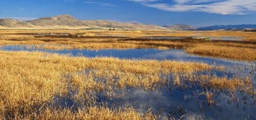
[{"label": "full golden grass expanse between the blue channel and the hills", "polygon": [[[70,33],[73,36],[54,37],[32,35],[15,35],[31,33]],[[185,39],[183,41],[165,41],[154,39],[140,39],[141,36],[238,36],[246,39],[255,38],[251,32],[230,31],[83,31],[83,30],[1,30],[0,45],[33,44],[43,49],[185,49],[187,53],[198,54],[207,57],[227,58],[234,60],[256,60],[255,42],[226,42],[226,41],[200,41],[198,39]],[[84,34],[76,37],[75,35]],[[14,35],[13,35],[14,34]],[[108,38],[99,36],[123,35],[133,37]],[[98,37],[97,37],[98,36]],[[251,41],[251,40],[250,40]],[[252,40],[253,41],[253,40]]]}]

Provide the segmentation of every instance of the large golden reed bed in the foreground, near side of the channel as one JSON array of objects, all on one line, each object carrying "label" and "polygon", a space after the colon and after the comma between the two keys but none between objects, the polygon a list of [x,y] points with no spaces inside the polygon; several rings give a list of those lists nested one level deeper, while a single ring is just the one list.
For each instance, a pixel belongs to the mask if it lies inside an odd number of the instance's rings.
[{"label": "large golden reed bed in the foreground, near side of the channel", "polygon": [[[142,114],[132,107],[110,109],[97,105],[97,94],[119,98],[125,94],[115,91],[127,87],[154,91],[170,83],[187,86],[189,81],[217,90],[253,90],[247,87],[251,84],[249,78],[244,81],[198,76],[201,71],[224,70],[222,66],[205,63],[83,58],[40,52],[1,51],[0,56],[0,116],[6,119],[157,118],[150,112]],[[245,87],[247,89],[240,89]],[[206,97],[210,100],[212,93]],[[73,107],[58,107],[56,101],[59,99],[75,101],[75,113]]]}]

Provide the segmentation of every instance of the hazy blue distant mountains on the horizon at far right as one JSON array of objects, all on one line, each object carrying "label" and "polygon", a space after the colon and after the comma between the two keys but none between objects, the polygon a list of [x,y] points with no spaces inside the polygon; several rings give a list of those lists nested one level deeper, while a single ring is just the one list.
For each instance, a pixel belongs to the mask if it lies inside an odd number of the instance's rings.
[{"label": "hazy blue distant mountains on the horizon at far right", "polygon": [[237,30],[237,31],[243,31],[243,30],[250,30],[250,29],[256,29],[256,25],[215,25],[215,26],[208,26],[208,27],[201,27],[198,28],[198,30]]}]

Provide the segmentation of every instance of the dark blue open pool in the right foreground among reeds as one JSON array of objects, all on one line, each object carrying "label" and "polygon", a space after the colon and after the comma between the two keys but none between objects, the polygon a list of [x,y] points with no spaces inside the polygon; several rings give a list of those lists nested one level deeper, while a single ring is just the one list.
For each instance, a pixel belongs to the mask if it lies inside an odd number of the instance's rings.
[{"label": "dark blue open pool in the right foreground among reeds", "polygon": [[[216,105],[209,105],[202,90],[179,90],[175,87],[163,88],[157,91],[132,90],[124,92],[122,98],[101,98],[101,102],[108,102],[109,106],[131,105],[142,112],[150,109],[154,114],[162,117],[180,118],[186,115],[190,119],[254,119],[256,115],[255,97],[245,100],[233,100],[229,93],[212,92]],[[238,99],[248,97],[237,92]]]}]

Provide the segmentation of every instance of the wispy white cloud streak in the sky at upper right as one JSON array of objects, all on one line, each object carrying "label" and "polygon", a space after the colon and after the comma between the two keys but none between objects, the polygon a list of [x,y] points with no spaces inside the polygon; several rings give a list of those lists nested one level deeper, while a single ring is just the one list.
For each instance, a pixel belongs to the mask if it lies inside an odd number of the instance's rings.
[{"label": "wispy white cloud streak in the sky at upper right", "polygon": [[[216,14],[251,14],[256,13],[255,0],[173,0],[174,4],[151,3],[156,0],[127,0],[141,2],[147,7],[164,11],[196,11]],[[146,2],[146,3],[145,3]]]}]

